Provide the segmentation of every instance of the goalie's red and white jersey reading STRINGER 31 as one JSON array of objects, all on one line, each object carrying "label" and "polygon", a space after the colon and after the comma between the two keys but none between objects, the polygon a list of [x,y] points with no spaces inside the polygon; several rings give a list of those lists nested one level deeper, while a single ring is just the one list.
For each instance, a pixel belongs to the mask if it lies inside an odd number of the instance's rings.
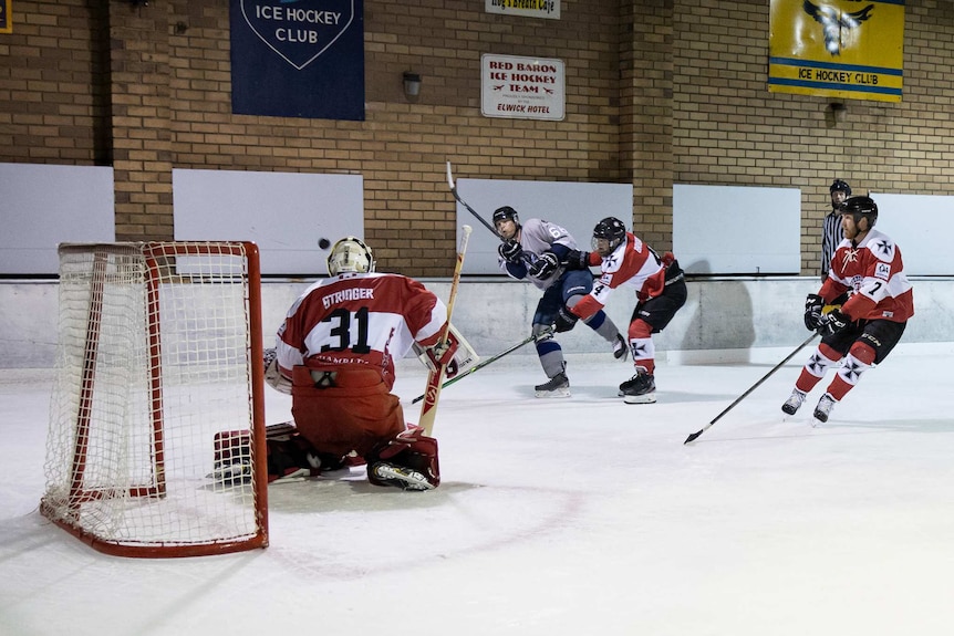
[{"label": "goalie's red and white jersey reading STRINGER 31", "polygon": [[292,367],[370,365],[394,386],[394,358],[414,342],[437,343],[447,307],[419,282],[400,274],[342,273],[299,296],[278,330],[282,372]]}]

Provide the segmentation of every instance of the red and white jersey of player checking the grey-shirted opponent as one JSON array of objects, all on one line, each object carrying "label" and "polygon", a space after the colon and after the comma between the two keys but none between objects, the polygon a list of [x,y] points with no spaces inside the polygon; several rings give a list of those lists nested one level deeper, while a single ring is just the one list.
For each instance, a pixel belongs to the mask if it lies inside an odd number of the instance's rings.
[{"label": "red and white jersey of player checking the grey-shirted opponent", "polygon": [[[590,254],[592,258],[595,252]],[[587,319],[603,309],[610,292],[619,286],[632,288],[639,302],[647,301],[663,293],[666,286],[666,267],[650,246],[632,232],[626,232],[625,242],[600,263],[602,275],[593,283],[593,291],[571,310]]]}]

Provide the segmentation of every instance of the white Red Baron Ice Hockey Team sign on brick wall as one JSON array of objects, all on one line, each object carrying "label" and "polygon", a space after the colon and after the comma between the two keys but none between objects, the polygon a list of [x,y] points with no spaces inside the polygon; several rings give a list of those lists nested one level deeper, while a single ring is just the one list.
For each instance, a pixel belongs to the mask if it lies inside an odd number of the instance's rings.
[{"label": "white Red Baron Ice Hockey Team sign on brick wall", "polygon": [[480,112],[485,117],[562,119],[566,67],[562,60],[480,56]]}]

